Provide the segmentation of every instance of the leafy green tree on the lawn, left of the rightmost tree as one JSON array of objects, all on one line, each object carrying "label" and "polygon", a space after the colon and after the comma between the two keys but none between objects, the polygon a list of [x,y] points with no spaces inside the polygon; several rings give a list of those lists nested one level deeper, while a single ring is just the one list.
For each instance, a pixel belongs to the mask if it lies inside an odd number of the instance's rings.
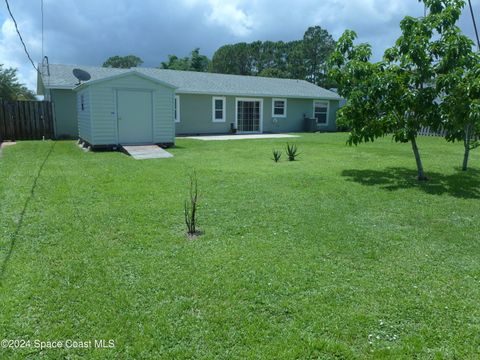
[{"label": "leafy green tree on the lawn, left of the rightmost tree", "polygon": [[432,58],[428,51],[432,33],[424,19],[406,17],[400,23],[402,36],[385,52],[384,61],[370,63],[371,47],[353,45],[356,34],[346,31],[332,56],[332,77],[339,94],[347,98],[341,121],[352,130],[350,144],[393,135],[397,142],[410,142],[419,180],[426,180],[417,134],[436,116],[436,92]]}]

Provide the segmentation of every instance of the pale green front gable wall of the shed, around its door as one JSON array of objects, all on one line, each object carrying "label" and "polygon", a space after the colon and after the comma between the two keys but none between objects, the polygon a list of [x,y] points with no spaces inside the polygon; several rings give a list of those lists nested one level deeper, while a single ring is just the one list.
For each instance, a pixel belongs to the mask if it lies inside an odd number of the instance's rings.
[{"label": "pale green front gable wall of the shed, around its door", "polygon": [[174,143],[174,89],[134,74],[89,86],[92,145],[118,144],[116,91],[149,90],[153,93],[153,140]]}]

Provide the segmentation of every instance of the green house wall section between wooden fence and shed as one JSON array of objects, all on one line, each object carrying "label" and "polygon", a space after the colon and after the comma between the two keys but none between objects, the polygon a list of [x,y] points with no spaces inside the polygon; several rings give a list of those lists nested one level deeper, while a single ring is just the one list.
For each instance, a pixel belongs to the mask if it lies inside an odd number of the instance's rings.
[{"label": "green house wall section between wooden fence and shed", "polygon": [[72,90],[51,89],[50,99],[55,112],[55,137],[77,138],[77,97]]}]

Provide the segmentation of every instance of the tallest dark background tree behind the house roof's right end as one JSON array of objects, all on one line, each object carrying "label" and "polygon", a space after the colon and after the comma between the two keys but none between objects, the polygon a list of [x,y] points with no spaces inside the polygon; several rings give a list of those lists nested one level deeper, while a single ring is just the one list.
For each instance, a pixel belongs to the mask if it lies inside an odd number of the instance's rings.
[{"label": "tallest dark background tree behind the house roof's right end", "polygon": [[303,54],[307,80],[319,86],[327,82],[328,59],[335,49],[335,40],[327,30],[311,26],[303,35]]}]

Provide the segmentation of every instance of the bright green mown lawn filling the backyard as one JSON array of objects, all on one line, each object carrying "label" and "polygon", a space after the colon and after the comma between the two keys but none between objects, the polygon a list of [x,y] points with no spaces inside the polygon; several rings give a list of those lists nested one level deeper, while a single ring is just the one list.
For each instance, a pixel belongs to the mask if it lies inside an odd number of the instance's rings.
[{"label": "bright green mown lawn filling the backyard", "polygon": [[[21,142],[0,158],[0,358],[478,359],[480,164],[421,138],[178,139],[172,159]],[[292,142],[292,141],[291,141]],[[183,202],[195,169],[199,226]],[[93,346],[93,345],[92,345]]]}]

